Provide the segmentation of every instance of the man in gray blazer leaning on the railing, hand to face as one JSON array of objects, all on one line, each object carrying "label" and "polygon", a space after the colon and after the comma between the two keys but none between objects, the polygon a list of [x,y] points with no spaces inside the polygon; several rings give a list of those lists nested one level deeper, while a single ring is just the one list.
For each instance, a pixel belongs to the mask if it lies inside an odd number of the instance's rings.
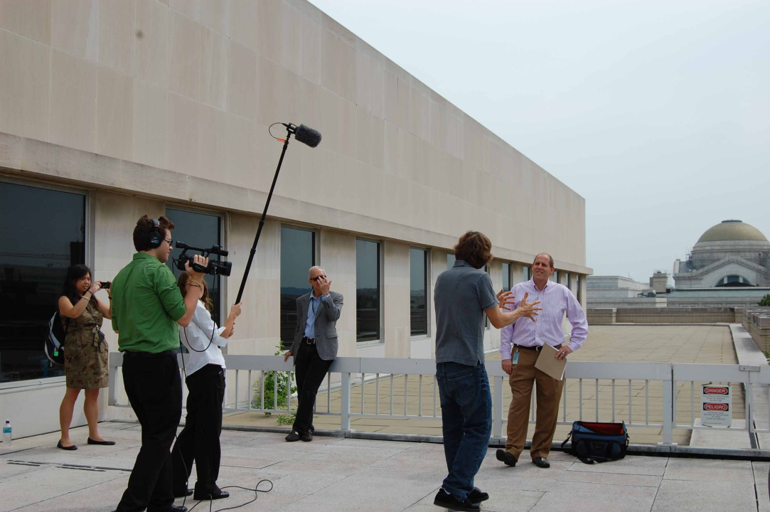
[{"label": "man in gray blazer leaning on the railing, hand to face", "polygon": [[336,321],[342,312],[340,293],[330,292],[332,282],[320,266],[307,272],[313,292],[296,300],[296,330],[291,349],[283,360],[294,356],[296,389],[300,400],[296,418],[287,441],[313,440],[313,405],[316,393],[336,357]]}]

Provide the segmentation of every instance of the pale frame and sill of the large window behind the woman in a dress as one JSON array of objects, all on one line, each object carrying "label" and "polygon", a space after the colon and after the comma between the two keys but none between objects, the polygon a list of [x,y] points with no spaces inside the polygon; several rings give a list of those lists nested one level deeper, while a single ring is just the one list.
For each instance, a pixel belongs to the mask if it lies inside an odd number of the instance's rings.
[{"label": "pale frame and sill of the large window behind the woman in a dress", "polygon": [[[0,182],[3,183],[9,183],[11,185],[19,185],[19,186],[28,186],[35,189],[46,189],[46,190],[55,190],[56,192],[67,192],[70,194],[77,194],[79,196],[83,196],[85,201],[83,204],[83,223],[85,224],[85,229],[83,230],[83,236],[85,238],[84,243],[84,257],[85,257],[85,266],[88,266],[89,269],[93,269],[94,264],[94,255],[95,255],[95,245],[94,245],[94,235],[95,235],[95,225],[94,225],[94,214],[95,214],[95,201],[93,200],[93,191],[89,189],[79,189],[77,187],[71,187],[71,186],[63,186],[58,183],[51,183],[51,182],[45,182],[45,181],[38,181],[38,180],[32,180],[32,179],[17,179],[12,176],[3,176],[0,175]],[[93,269],[95,271],[95,269]],[[42,343],[40,346],[40,353],[42,357],[45,357],[45,354],[42,353]],[[61,384],[65,384],[67,382],[67,377],[62,376],[55,376],[55,377],[44,377],[39,379],[28,379],[28,380],[15,380],[12,382],[5,382],[0,383],[0,394],[2,393],[13,393],[12,390],[20,388],[28,388],[28,390],[41,390],[48,387],[59,387]]]}]

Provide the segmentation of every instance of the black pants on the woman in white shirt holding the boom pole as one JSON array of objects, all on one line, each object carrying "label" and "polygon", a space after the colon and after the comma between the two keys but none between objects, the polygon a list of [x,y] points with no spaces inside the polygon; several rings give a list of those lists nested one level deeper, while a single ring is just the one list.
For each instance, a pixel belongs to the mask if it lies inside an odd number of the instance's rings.
[{"label": "black pants on the woman in white shirt holding the boom pole", "polygon": [[225,397],[225,370],[218,364],[207,364],[187,377],[187,417],[185,427],[176,437],[171,460],[174,467],[173,489],[181,495],[195,460],[198,480],[196,496],[216,494],[219,460],[222,450],[222,401]]}]

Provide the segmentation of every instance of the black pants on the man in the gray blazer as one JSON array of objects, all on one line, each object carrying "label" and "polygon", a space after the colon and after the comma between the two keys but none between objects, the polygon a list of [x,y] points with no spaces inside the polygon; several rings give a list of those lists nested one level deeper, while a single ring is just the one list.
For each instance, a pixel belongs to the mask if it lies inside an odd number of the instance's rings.
[{"label": "black pants on the man in the gray blazer", "polygon": [[300,400],[296,408],[293,430],[303,434],[313,431],[313,406],[316,393],[329,372],[332,361],[324,361],[318,355],[316,344],[309,344],[304,339],[296,355],[296,391]]}]

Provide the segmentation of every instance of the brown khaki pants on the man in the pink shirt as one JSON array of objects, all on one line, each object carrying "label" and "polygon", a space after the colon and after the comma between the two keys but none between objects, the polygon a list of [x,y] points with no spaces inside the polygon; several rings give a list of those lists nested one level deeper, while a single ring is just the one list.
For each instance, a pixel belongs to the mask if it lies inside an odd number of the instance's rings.
[{"label": "brown khaki pants on the man in the pink shirt", "polygon": [[[512,353],[515,353],[514,347]],[[556,380],[540,370],[536,370],[534,363],[540,353],[535,350],[519,349],[519,362],[514,364],[511,383],[511,407],[508,409],[508,439],[505,450],[511,453],[516,460],[524,450],[527,441],[527,427],[529,426],[530,402],[532,399],[532,384],[537,383],[537,420],[532,437],[530,456],[548,457],[551,452],[551,443],[556,432],[556,421],[559,413],[561,390],[564,388],[564,380]]]}]

